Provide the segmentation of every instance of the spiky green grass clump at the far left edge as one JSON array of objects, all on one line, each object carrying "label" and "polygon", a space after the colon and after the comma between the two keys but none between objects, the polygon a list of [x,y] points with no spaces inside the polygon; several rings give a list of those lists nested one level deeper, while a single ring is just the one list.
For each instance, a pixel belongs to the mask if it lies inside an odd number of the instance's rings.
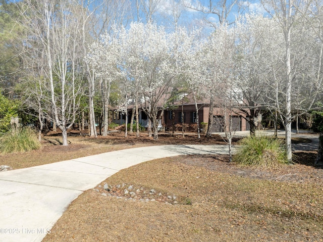
[{"label": "spiky green grass clump at the far left edge", "polygon": [[26,152],[40,148],[36,133],[30,128],[20,128],[0,137],[0,153]]}]

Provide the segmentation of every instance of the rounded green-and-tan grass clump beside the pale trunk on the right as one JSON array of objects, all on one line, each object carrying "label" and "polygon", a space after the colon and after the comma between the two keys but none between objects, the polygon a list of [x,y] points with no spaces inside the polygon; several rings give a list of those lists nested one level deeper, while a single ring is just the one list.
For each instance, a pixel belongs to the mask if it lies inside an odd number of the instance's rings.
[{"label": "rounded green-and-tan grass clump beside the pale trunk on the right", "polygon": [[283,141],[255,135],[243,138],[233,161],[242,166],[272,169],[287,164]]}]

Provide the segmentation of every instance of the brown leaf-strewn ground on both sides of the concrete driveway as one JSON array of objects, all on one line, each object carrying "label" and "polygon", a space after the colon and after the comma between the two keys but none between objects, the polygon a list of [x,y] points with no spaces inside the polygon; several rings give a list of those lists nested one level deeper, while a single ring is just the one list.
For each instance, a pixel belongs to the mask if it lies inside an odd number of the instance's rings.
[{"label": "brown leaf-strewn ground on both sides of the concrete driveway", "polygon": [[[40,150],[0,160],[17,169],[140,146],[225,144],[218,135],[123,136],[71,133],[62,147],[51,134]],[[323,241],[323,170],[315,157],[297,152],[294,165],[270,171],[238,167],[223,155],[141,163],[82,193],[43,241]]]}]

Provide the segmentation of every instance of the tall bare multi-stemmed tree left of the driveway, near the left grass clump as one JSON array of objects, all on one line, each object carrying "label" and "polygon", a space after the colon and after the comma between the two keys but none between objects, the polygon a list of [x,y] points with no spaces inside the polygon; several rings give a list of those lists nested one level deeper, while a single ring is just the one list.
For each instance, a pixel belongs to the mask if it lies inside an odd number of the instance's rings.
[{"label": "tall bare multi-stemmed tree left of the driveway, near the left grass clump", "polygon": [[[28,26],[28,39],[37,40],[39,48],[44,52],[44,62],[34,56],[43,70],[45,82],[43,90],[48,96],[43,101],[50,104],[46,110],[46,119],[55,121],[62,130],[63,145],[67,146],[67,129],[72,127],[78,110],[78,94],[82,76],[78,73],[79,22],[73,16],[77,3],[67,4],[42,1],[25,1],[21,5],[23,21]],[[73,26],[73,27],[72,27]]]}]

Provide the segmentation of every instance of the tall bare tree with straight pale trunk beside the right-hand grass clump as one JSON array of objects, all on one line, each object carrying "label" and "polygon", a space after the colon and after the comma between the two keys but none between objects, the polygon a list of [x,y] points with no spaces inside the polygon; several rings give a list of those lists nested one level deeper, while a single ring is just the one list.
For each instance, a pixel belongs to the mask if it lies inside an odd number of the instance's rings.
[{"label": "tall bare tree with straight pale trunk beside the right-hand grass clump", "polygon": [[[268,0],[262,1],[263,7],[273,17],[273,19],[280,26],[280,33],[283,35],[285,48],[285,54],[281,58],[284,63],[284,80],[285,86],[283,94],[285,96],[285,112],[284,112],[284,126],[285,126],[285,138],[286,138],[286,154],[288,161],[292,161],[292,146],[291,146],[291,123],[292,123],[292,86],[295,80],[299,79],[298,74],[300,69],[300,63],[297,60],[300,56],[293,53],[293,51],[301,52],[301,45],[298,41],[300,35],[295,34],[302,28],[301,24],[304,23],[304,16],[307,13],[311,1],[296,1],[296,0]],[[296,43],[296,46],[293,44]],[[295,49],[296,48],[296,49]],[[314,98],[315,100],[315,98]],[[313,100],[313,102],[314,102]],[[307,110],[311,108],[311,105],[307,107]]]}]

